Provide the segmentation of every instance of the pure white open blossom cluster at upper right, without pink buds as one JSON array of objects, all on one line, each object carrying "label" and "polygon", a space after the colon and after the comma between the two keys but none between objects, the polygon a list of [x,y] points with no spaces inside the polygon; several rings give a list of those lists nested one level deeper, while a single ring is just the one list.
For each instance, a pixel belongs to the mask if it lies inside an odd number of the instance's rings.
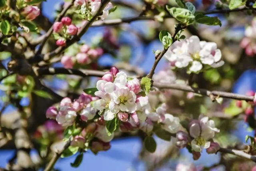
[{"label": "pure white open blossom cluster at upper right, without pink buds", "polygon": [[224,64],[217,44],[200,41],[197,36],[174,42],[164,56],[171,66],[187,68],[188,73],[198,73],[202,69],[218,68]]}]

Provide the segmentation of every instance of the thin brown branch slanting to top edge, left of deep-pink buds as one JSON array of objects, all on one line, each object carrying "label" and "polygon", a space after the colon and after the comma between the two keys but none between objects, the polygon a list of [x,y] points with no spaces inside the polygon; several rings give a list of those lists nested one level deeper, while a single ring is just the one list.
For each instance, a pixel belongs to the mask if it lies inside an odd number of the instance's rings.
[{"label": "thin brown branch slanting to top edge, left of deep-pink buds", "polygon": [[[58,14],[58,16],[57,16],[57,18],[54,22],[59,22],[61,20],[61,18],[64,17],[64,15],[68,11],[68,9],[71,8],[74,5],[74,2],[75,2],[75,0],[72,0],[72,2],[70,4],[68,4],[68,6],[66,6],[66,8],[64,8],[62,10],[62,12],[60,12],[60,14]],[[46,41],[48,40],[48,38],[50,37],[52,32],[53,32],[53,24],[52,24],[51,28],[48,30],[48,32],[44,35],[44,39],[42,40],[42,44],[40,45],[40,48],[36,52],[36,55],[38,55],[42,52],[44,44],[46,43]]]}]

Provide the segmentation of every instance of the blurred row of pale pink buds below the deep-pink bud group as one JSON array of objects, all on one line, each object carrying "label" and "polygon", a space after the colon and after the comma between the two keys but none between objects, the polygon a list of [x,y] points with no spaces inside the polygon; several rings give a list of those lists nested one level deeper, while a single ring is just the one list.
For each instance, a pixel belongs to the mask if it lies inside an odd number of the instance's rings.
[{"label": "blurred row of pale pink buds below the deep-pink bud group", "polygon": [[88,45],[80,46],[80,51],[76,56],[62,56],[61,63],[64,68],[73,68],[74,64],[90,64],[93,60],[102,56],[104,51],[102,48],[91,49]]}]

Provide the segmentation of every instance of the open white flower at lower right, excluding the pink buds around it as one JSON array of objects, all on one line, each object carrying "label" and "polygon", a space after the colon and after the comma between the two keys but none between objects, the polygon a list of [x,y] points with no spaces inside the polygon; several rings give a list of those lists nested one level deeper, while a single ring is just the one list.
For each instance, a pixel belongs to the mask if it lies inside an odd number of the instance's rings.
[{"label": "open white flower at lower right, excluding the pink buds around it", "polygon": [[209,120],[208,117],[199,116],[199,121],[190,122],[190,136],[194,139],[191,142],[192,149],[197,152],[201,152],[203,148],[210,147],[210,139],[214,137],[215,132],[220,130],[215,128],[213,120]]}]

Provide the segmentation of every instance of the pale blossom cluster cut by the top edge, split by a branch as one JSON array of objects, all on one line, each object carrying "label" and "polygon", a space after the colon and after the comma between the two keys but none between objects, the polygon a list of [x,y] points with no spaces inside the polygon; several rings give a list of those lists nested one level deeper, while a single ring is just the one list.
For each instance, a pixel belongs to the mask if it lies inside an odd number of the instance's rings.
[{"label": "pale blossom cluster cut by the top edge, split by a branch", "polygon": [[[76,6],[81,6],[79,13],[83,16],[83,18],[90,20],[90,18],[96,14],[101,2],[100,0],[75,0],[74,4]],[[112,8],[113,5],[111,2],[109,2],[102,11],[100,18],[104,20],[108,16],[109,10]]]}]

